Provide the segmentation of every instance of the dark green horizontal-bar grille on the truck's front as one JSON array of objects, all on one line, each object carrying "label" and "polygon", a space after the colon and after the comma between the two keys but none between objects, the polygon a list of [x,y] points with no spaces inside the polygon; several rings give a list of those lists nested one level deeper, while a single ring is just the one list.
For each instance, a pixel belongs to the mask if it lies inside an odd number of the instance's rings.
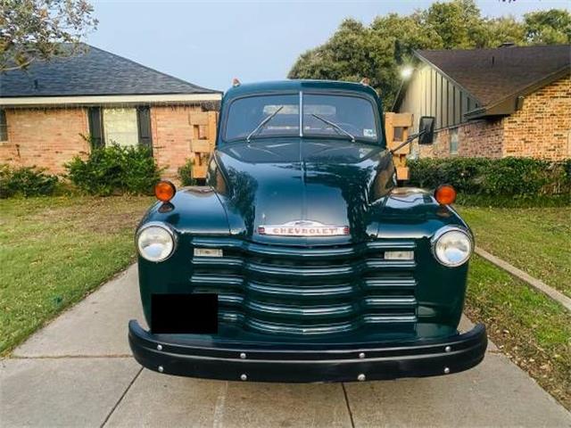
[{"label": "dark green horizontal-bar grille on the truck's front", "polygon": [[221,323],[296,335],[417,321],[415,261],[383,258],[384,251],[414,251],[414,241],[295,248],[194,237],[192,245],[224,252],[191,252],[193,292],[219,295]]}]

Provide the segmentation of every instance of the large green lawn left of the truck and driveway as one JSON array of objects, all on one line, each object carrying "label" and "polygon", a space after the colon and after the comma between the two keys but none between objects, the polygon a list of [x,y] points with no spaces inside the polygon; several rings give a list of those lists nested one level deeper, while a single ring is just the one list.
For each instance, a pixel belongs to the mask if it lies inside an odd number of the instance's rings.
[{"label": "large green lawn left of the truck and driveway", "polygon": [[149,197],[0,201],[0,355],[135,257]]}]

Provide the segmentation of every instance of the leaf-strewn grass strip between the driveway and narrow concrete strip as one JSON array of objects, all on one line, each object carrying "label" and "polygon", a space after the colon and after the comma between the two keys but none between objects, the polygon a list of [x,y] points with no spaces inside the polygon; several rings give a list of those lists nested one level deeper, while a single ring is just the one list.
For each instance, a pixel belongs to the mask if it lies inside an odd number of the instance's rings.
[{"label": "leaf-strewn grass strip between the driveway and narrow concrete strip", "polygon": [[501,350],[571,409],[571,314],[488,261],[472,259],[466,313]]}]

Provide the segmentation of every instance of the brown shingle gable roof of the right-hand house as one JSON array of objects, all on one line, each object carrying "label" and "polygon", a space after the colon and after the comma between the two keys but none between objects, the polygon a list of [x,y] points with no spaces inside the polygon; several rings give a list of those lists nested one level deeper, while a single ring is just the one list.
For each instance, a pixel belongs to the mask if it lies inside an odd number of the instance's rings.
[{"label": "brown shingle gable roof of the right-hand house", "polygon": [[[571,45],[505,46],[496,49],[415,51],[427,63],[476,98],[482,106],[468,119],[510,114],[517,97],[528,95],[571,72]],[[397,95],[400,103],[407,89]]]}]

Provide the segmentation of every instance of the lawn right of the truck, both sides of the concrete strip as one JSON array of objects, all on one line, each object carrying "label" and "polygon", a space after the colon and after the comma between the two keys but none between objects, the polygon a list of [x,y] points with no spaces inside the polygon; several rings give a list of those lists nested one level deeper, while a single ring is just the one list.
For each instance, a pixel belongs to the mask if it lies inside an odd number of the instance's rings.
[{"label": "lawn right of the truck, both sides of the concrete strip", "polygon": [[[459,207],[476,245],[571,296],[571,207]],[[571,409],[571,314],[559,303],[477,256],[466,312],[492,341]]]}]

